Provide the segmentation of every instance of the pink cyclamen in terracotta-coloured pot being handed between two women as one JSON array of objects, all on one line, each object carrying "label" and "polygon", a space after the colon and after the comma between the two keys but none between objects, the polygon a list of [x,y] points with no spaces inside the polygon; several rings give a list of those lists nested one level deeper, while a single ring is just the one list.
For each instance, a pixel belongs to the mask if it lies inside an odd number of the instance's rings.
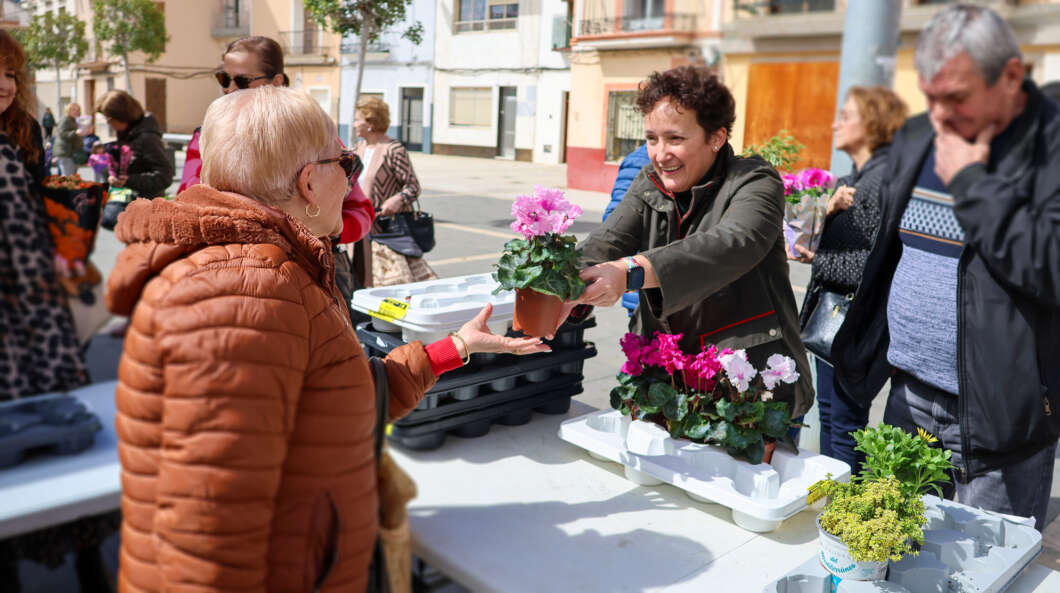
[{"label": "pink cyclamen in terracotta-coloured pot being handed between two women", "polygon": [[505,243],[505,254],[493,278],[497,291],[515,291],[512,327],[527,335],[549,335],[555,329],[563,301],[582,295],[585,282],[578,275],[578,249],[572,234],[563,234],[582,209],[563,191],[534,188],[512,205],[512,230],[523,236]]}]

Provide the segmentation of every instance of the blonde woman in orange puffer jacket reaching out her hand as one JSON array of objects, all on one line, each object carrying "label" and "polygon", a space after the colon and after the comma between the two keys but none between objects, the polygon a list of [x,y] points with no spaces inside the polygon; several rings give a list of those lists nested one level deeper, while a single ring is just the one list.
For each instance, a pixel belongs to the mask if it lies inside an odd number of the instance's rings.
[{"label": "blonde woman in orange puffer jacket reaching out her hand", "polygon": [[[119,590],[365,591],[374,386],[328,245],[356,161],[286,88],[217,99],[201,141],[202,184],[117,228]],[[490,313],[387,356],[391,420],[472,353],[547,351],[491,334]]]}]

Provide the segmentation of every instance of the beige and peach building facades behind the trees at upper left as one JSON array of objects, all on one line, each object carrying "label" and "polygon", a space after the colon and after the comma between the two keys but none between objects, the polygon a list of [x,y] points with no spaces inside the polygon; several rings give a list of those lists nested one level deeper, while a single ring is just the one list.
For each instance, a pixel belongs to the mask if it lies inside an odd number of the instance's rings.
[{"label": "beige and peach building facades behind the trees at upper left", "polygon": [[[207,107],[219,97],[213,73],[233,39],[265,35],[284,49],[292,86],[304,88],[333,118],[338,119],[339,36],[322,31],[305,12],[302,0],[169,0],[157,1],[165,15],[165,52],[148,63],[141,52],[129,55],[126,88],[121,59],[107,52],[92,34],[91,0],[33,0],[33,14],[65,11],[88,23],[89,55],[61,74],[61,105],[55,103],[54,70],[37,72],[40,109],[61,110],[71,101],[94,111],[100,97],[119,88],[132,93],[170,133],[190,134],[202,122]],[[106,135],[98,119],[96,129]]]}]

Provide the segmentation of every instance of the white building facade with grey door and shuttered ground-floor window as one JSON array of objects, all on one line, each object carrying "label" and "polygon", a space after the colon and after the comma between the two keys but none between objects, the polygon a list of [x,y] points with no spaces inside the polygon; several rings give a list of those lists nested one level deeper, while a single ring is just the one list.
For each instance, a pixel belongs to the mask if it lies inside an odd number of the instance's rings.
[{"label": "white building facade with grey door and shuttered ground-floor window", "polygon": [[563,0],[438,0],[434,153],[565,161],[571,72],[553,37],[568,13]]}]

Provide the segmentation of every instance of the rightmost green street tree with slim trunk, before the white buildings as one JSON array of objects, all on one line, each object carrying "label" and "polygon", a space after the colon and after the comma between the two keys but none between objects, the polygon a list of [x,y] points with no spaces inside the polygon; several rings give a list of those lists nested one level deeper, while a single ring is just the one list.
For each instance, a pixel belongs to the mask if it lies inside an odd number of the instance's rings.
[{"label": "rightmost green street tree with slim trunk, before the white buildings", "polygon": [[[360,40],[357,57],[357,84],[353,89],[353,104],[360,97],[360,82],[365,76],[365,55],[368,45],[391,27],[405,21],[405,13],[413,0],[305,0],[305,7],[318,22],[342,35],[356,35]],[[419,45],[423,41],[423,23],[410,23],[402,37]]]}]

